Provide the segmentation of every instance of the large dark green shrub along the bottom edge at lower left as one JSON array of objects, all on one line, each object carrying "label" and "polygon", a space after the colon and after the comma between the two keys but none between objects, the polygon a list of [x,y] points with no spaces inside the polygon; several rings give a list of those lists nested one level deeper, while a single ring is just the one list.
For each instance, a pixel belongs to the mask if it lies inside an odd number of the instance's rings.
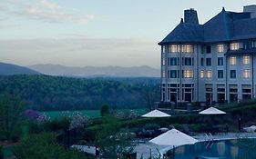
[{"label": "large dark green shrub along the bottom edge at lower left", "polygon": [[65,150],[56,144],[55,134],[33,134],[14,147],[18,159],[86,159],[75,150]]}]

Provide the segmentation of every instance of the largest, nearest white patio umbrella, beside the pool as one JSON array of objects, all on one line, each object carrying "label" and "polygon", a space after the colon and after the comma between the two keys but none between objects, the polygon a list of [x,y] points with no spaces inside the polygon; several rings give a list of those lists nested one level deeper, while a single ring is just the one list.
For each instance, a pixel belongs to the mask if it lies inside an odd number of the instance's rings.
[{"label": "largest, nearest white patio umbrella, beside the pool", "polygon": [[168,132],[149,140],[149,142],[159,145],[179,146],[184,144],[196,144],[198,140],[173,128]]}]

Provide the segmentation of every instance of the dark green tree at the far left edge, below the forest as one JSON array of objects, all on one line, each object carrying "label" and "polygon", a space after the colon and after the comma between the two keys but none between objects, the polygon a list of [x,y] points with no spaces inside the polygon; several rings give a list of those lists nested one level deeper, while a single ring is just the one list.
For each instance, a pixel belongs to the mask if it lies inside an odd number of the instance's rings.
[{"label": "dark green tree at the far left edge, below the forest", "polygon": [[18,96],[0,96],[0,134],[7,140],[16,140],[21,134],[24,104]]}]

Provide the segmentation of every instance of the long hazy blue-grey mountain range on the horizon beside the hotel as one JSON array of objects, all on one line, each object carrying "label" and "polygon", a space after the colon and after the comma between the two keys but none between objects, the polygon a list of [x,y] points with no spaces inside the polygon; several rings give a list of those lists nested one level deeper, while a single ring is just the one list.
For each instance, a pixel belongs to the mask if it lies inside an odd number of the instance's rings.
[{"label": "long hazy blue-grey mountain range on the horizon beside the hotel", "polygon": [[159,77],[160,70],[149,66],[104,66],[71,67],[65,65],[29,65],[27,66],[45,75],[63,75],[80,77]]}]

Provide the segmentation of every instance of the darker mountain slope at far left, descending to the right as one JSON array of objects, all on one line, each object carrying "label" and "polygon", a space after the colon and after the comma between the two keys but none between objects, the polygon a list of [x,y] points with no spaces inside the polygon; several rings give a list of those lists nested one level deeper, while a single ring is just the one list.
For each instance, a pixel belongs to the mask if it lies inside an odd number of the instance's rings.
[{"label": "darker mountain slope at far left, descending to the right", "polygon": [[40,75],[24,66],[0,63],[0,75]]}]

